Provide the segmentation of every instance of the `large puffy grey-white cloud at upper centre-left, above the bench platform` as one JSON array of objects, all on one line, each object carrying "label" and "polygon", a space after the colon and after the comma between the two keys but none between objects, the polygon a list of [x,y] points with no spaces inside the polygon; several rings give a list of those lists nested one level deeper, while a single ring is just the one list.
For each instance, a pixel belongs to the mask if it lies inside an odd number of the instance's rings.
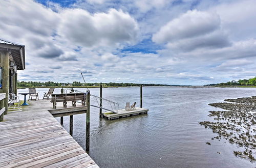
[{"label": "large puffy grey-white cloud at upper centre-left, above the bench platform", "polygon": [[134,44],[138,36],[138,23],[128,13],[110,9],[108,13],[95,13],[82,9],[60,12],[58,34],[76,45],[84,47]]}]

